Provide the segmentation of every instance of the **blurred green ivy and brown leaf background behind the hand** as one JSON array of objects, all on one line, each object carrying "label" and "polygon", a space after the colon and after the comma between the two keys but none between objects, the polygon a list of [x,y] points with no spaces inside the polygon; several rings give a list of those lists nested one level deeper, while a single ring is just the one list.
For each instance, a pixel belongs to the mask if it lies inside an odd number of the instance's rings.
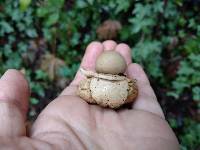
[{"label": "blurred green ivy and brown leaf background behind the hand", "polygon": [[0,74],[26,75],[32,121],[73,79],[91,41],[125,42],[181,149],[198,150],[199,12],[199,0],[0,0]]}]

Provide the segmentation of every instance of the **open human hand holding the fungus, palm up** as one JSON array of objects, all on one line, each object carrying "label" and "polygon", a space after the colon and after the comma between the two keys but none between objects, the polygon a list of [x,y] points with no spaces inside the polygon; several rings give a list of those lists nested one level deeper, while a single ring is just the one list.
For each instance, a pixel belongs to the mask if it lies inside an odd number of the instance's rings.
[{"label": "open human hand holding the fungus, palm up", "polygon": [[143,69],[131,61],[128,45],[117,45],[114,41],[92,42],[81,66],[94,71],[97,56],[111,49],[124,56],[128,64],[127,76],[137,79],[139,94],[132,109],[115,111],[87,104],[75,94],[78,83],[84,79],[78,71],[72,83],[41,112],[28,136],[24,124],[28,84],[18,71],[9,70],[0,80],[0,147],[179,149]]}]

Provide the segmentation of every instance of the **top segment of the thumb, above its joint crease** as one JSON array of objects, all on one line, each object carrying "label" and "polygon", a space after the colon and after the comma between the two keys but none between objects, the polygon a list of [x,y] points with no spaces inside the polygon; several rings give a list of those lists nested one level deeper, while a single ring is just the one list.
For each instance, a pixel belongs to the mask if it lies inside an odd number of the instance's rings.
[{"label": "top segment of the thumb, above its joint crease", "polygon": [[29,96],[30,90],[24,75],[14,69],[6,71],[0,79],[0,101],[17,105],[26,116]]}]

